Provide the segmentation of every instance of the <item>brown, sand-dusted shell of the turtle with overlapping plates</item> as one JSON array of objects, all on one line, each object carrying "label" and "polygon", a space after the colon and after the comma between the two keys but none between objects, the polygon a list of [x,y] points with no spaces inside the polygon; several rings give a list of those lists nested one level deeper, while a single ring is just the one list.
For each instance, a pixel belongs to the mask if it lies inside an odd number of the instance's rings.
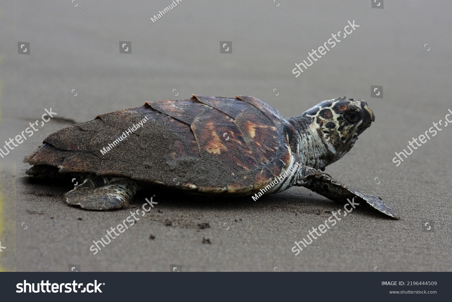
[{"label": "brown, sand-dusted shell of the turtle with overlapping plates", "polygon": [[293,165],[293,128],[250,96],[146,102],[49,135],[24,162],[207,193],[250,194]]}]

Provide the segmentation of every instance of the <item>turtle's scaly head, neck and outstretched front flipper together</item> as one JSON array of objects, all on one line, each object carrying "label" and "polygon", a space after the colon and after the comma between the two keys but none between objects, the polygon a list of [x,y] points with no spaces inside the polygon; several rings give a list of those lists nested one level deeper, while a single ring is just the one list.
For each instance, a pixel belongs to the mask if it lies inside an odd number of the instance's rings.
[{"label": "turtle's scaly head, neck and outstretched front flipper together", "polygon": [[278,192],[293,185],[304,186],[331,200],[368,204],[386,215],[399,216],[379,198],[348,187],[322,173],[327,165],[339,160],[358,139],[358,135],[375,121],[366,102],[353,99],[333,99],[317,104],[300,117],[289,118],[295,130],[291,149],[302,165]]}]

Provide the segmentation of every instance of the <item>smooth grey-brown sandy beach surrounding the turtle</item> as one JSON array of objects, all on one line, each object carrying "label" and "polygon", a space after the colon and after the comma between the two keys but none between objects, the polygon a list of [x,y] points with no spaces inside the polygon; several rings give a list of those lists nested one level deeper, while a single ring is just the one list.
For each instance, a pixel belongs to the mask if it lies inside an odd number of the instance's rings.
[{"label": "smooth grey-brown sandy beach surrounding the turtle", "polygon": [[[0,158],[0,270],[452,270],[452,3],[184,0],[153,21],[170,0],[44,2],[0,3],[0,144],[57,113]],[[332,34],[340,42],[296,77],[295,63]],[[401,219],[356,208],[295,255],[294,242],[343,205],[302,187],[256,201],[151,188],[128,208],[86,211],[66,204],[71,180],[24,177],[24,156],[52,132],[192,94],[251,95],[286,118],[363,99],[375,122],[325,172]],[[395,152],[434,123],[442,130],[396,165]],[[93,255],[93,241],[151,197],[151,211]]]}]

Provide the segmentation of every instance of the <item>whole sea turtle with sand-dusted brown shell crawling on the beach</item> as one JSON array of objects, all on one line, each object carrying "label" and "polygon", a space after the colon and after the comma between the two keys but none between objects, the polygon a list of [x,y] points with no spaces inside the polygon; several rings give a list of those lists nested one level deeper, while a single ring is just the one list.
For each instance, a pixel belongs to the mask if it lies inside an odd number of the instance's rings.
[{"label": "whole sea turtle with sand-dusted brown shell crawling on the beach", "polygon": [[66,201],[89,210],[122,208],[146,186],[255,200],[297,185],[341,203],[357,198],[398,219],[379,198],[321,172],[374,120],[366,102],[345,97],[286,119],[251,96],[193,94],[63,128],[24,162],[33,165],[27,175],[84,179]]}]

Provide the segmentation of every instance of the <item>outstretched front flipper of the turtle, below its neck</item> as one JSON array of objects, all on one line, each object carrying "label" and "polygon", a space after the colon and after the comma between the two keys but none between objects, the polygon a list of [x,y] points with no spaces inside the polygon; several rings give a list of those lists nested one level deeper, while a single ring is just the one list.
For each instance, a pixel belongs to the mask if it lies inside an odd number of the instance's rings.
[{"label": "outstretched front flipper of the turtle, below its neck", "polygon": [[[334,180],[331,175],[322,173],[319,170],[307,166],[303,166],[300,169],[302,170],[302,176],[297,180],[296,185],[304,186],[315,193],[319,193],[326,198],[340,203],[347,203],[348,198],[352,200],[353,204],[365,202],[372,208],[375,208],[392,218],[400,219],[400,217],[379,198],[358,191],[357,189],[349,188],[347,185]],[[353,198],[356,198],[357,200],[353,200]]]}]

